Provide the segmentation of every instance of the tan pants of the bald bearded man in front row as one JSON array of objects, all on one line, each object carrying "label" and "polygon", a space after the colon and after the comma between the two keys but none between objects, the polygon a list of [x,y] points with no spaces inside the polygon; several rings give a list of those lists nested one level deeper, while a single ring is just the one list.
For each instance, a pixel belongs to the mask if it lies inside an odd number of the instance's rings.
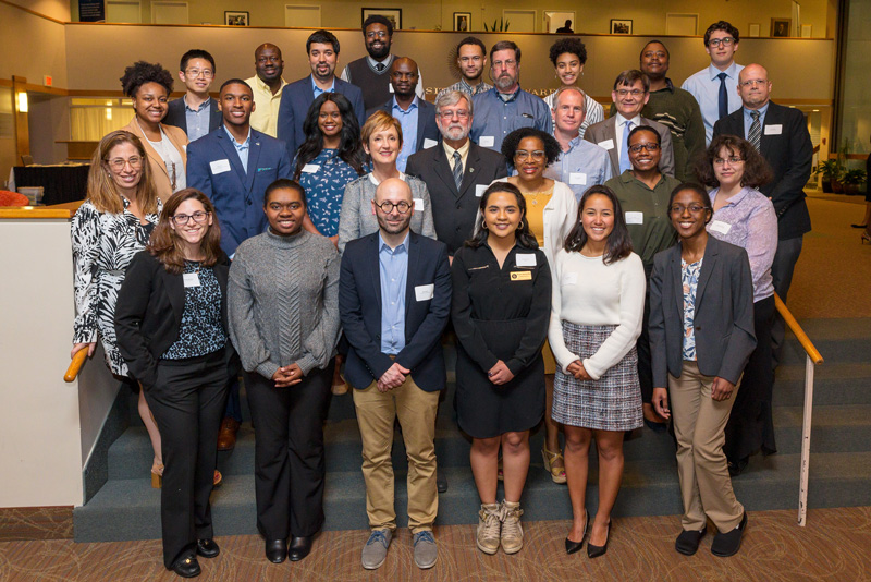
[{"label": "tan pants of the bald bearded man in front row", "polygon": [[376,383],[354,390],[354,405],[363,439],[363,477],[366,481],[366,512],[372,530],[395,530],[393,496],[393,423],[402,426],[408,456],[408,529],[412,533],[432,530],[439,512],[436,487],[436,412],[439,392],[421,390],[407,376],[398,388],[379,392]]}]

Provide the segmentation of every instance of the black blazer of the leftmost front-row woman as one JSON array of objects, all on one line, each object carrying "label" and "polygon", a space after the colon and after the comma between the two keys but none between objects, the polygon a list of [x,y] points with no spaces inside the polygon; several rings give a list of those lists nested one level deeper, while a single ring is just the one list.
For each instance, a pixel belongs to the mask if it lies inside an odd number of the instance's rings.
[{"label": "black blazer of the leftmost front-row woman", "polygon": [[[221,287],[221,324],[226,332],[226,277],[230,264],[222,256],[212,267]],[[184,280],[168,272],[148,251],[131,260],[118,292],[115,336],[121,356],[133,377],[150,388],[157,378],[157,361],[179,338],[184,313]],[[238,371],[238,359],[228,335],[228,378]]]}]

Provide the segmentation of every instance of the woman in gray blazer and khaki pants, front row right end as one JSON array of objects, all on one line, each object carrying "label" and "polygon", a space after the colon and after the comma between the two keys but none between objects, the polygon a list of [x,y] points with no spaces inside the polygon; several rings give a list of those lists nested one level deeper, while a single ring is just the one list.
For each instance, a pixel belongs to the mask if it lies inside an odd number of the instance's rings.
[{"label": "woman in gray blazer and khaki pants, front row right end", "polygon": [[756,347],[753,279],[744,248],[708,235],[713,209],[704,189],[677,186],[668,214],[678,244],[653,259],[650,350],[653,407],[665,419],[674,412],[684,502],[675,549],[695,554],[710,518],[719,531],[711,553],[726,557],[738,551],[747,526],[732,490],[723,431]]}]

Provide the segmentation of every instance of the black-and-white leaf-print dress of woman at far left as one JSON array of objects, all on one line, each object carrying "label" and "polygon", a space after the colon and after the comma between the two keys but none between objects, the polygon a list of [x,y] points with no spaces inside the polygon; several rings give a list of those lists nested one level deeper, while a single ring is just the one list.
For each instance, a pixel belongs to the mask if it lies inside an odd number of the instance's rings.
[{"label": "black-and-white leaf-print dress of woman at far left", "polygon": [[133,255],[148,243],[163,205],[158,201],[157,213],[146,215],[147,223],[142,225],[130,211],[130,201],[122,199],[122,214],[100,213],[85,201],[73,217],[70,229],[76,307],[73,343],[95,342],[99,332],[109,369],[127,376],[127,365],[115,344],[118,290]]}]

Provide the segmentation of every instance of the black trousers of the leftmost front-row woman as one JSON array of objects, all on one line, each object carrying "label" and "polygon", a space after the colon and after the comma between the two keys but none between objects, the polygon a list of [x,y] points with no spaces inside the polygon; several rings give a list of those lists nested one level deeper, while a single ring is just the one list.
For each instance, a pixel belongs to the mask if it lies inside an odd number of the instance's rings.
[{"label": "black trousers of the leftmost front-row woman", "polygon": [[163,488],[160,523],[163,563],[193,556],[197,539],[213,537],[209,495],[218,432],[226,404],[224,351],[199,357],[161,360],[145,399],[160,429]]}]

